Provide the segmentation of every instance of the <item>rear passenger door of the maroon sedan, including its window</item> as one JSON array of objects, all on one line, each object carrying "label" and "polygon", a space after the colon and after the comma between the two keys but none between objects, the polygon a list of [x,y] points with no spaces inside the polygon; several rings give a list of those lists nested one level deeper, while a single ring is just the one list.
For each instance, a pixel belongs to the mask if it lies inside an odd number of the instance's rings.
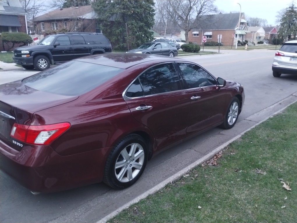
[{"label": "rear passenger door of the maroon sedan, including its window", "polygon": [[125,92],[133,117],[151,129],[159,148],[185,137],[190,100],[181,84],[173,63],[166,63],[146,70]]}]

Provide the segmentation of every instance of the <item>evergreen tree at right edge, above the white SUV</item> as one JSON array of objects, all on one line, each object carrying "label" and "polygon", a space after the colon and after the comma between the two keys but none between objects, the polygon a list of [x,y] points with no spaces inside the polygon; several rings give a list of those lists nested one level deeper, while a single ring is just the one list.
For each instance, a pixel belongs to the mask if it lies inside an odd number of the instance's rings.
[{"label": "evergreen tree at right edge, above the white SUV", "polygon": [[279,36],[282,39],[296,39],[297,33],[297,9],[292,5],[285,9],[280,18]]}]

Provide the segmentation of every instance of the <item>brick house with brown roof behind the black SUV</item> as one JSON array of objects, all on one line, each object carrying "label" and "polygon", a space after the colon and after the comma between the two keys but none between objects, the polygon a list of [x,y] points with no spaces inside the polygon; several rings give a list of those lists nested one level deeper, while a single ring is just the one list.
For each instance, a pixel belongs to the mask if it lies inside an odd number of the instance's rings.
[{"label": "brick house with brown roof behind the black SUV", "polygon": [[56,9],[34,18],[37,33],[66,29],[69,32],[100,33],[91,5]]}]

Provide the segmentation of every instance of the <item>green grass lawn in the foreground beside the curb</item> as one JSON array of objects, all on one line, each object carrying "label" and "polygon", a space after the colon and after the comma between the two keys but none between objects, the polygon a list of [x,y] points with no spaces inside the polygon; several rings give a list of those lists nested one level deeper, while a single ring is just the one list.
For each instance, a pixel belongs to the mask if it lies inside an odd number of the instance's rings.
[{"label": "green grass lawn in the foreground beside the curb", "polygon": [[297,103],[109,222],[296,223],[296,139]]}]

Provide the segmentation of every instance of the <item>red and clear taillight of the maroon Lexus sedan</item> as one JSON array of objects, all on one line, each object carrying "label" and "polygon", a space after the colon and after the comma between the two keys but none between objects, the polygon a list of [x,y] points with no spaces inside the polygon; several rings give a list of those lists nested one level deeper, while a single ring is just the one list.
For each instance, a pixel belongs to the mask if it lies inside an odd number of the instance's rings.
[{"label": "red and clear taillight of the maroon Lexus sedan", "polygon": [[70,123],[63,122],[52,125],[28,126],[15,123],[10,136],[34,145],[50,145],[56,138],[70,128]]}]

